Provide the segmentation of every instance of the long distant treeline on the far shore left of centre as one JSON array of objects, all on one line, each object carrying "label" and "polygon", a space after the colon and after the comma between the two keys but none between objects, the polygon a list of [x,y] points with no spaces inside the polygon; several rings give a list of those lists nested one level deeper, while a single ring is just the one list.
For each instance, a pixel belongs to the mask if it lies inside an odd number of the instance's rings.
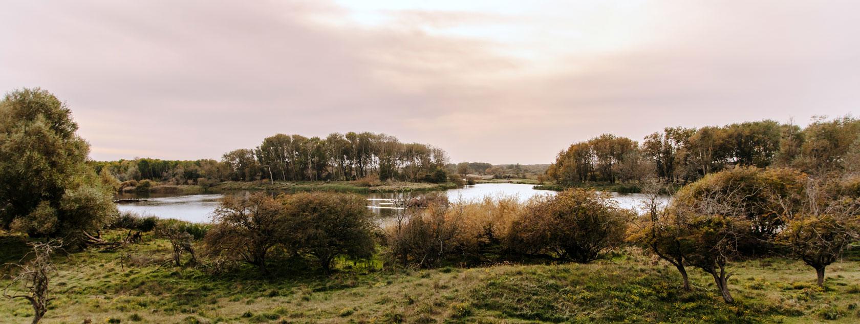
[{"label": "long distant treeline on the far shore left of centre", "polygon": [[327,138],[277,134],[255,149],[227,152],[221,161],[166,161],[150,158],[93,162],[121,181],[158,180],[175,185],[199,179],[222,180],[379,180],[445,182],[445,150],[429,144],[401,143],[372,132],[332,133]]}]

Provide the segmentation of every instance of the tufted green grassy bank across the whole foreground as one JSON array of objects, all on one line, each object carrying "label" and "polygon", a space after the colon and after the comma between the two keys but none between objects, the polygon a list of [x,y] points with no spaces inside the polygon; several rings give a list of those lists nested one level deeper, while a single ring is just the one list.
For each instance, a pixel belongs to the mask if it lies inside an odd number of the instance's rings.
[{"label": "tufted green grassy bank across the whole foreground", "polygon": [[[4,237],[3,260],[24,241]],[[828,267],[826,288],[791,260],[733,264],[735,305],[710,276],[691,271],[693,291],[679,290],[673,268],[630,250],[590,265],[504,265],[386,272],[377,262],[341,261],[331,278],[310,267],[210,274],[160,266],[169,243],[144,241],[118,252],[58,256],[45,323],[390,323],[390,322],[788,322],[860,321],[860,261]],[[6,284],[6,278],[0,284]],[[0,322],[28,323],[23,301],[0,304]]]}]

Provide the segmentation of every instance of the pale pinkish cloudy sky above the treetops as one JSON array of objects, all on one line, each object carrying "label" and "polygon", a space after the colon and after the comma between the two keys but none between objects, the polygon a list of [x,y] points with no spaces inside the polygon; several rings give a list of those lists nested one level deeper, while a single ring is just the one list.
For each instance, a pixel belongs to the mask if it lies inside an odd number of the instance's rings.
[{"label": "pale pinkish cloudy sky above the treetops", "polygon": [[218,159],[372,131],[550,163],[602,133],[860,112],[858,1],[30,1],[0,91],[71,108],[91,158]]}]

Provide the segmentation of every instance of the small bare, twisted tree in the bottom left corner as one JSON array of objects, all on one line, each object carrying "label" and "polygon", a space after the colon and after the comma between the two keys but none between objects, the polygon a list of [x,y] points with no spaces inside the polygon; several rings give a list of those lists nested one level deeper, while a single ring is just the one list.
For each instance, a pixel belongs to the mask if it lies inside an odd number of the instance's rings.
[{"label": "small bare, twisted tree in the bottom left corner", "polygon": [[33,324],[36,324],[45,316],[48,304],[53,300],[49,284],[52,275],[57,271],[51,262],[51,254],[62,246],[62,242],[52,240],[28,244],[33,247],[33,252],[30,253],[33,255],[33,259],[23,265],[14,265],[20,268],[21,272],[3,290],[3,296],[9,299],[24,298],[28,300],[33,306]]}]

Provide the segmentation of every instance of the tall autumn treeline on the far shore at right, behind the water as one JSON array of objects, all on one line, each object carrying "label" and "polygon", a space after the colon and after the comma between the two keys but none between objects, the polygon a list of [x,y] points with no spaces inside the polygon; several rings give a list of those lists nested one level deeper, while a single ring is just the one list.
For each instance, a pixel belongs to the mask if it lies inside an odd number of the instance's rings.
[{"label": "tall autumn treeline on the far shore at right, behind the water", "polygon": [[810,174],[860,165],[860,120],[816,118],[806,128],[762,120],[702,128],[669,127],[638,143],[611,134],[570,145],[547,176],[562,185],[659,177],[689,183],[735,166],[796,168]]}]

